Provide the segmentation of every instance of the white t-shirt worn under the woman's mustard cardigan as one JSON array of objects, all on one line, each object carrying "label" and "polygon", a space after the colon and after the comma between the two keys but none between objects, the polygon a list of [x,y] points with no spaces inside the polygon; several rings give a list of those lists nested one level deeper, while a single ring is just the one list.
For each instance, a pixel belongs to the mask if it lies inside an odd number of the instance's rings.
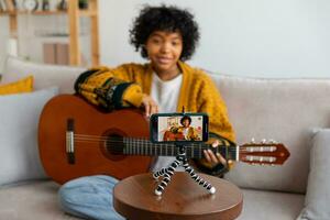
[{"label": "white t-shirt worn under the woman's mustard cardigan", "polygon": [[[179,74],[174,79],[163,81],[157,74],[153,73],[152,86],[151,86],[151,97],[157,102],[160,107],[160,113],[176,112],[177,102],[180,94],[183,82],[183,75]],[[152,170],[157,172],[161,168],[167,167],[174,162],[174,156],[158,156],[154,163]],[[177,170],[183,170],[179,167]]]}]

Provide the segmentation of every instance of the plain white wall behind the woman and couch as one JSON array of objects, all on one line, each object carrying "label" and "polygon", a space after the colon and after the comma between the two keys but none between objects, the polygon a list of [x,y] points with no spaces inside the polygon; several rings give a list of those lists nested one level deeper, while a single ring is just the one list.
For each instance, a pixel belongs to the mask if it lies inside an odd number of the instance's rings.
[{"label": "plain white wall behind the woman and couch", "polygon": [[195,13],[201,41],[193,65],[240,76],[330,76],[327,0],[100,0],[103,64],[143,61],[128,35],[146,2],[169,2]]}]

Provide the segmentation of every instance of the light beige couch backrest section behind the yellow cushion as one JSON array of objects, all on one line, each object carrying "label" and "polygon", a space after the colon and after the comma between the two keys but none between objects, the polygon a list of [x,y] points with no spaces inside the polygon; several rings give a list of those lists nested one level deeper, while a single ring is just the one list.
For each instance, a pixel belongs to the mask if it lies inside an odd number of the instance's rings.
[{"label": "light beige couch backrest section behind the yellow cushion", "polygon": [[1,84],[21,79],[24,76],[34,76],[34,89],[59,87],[59,94],[73,94],[74,82],[85,68],[59,65],[35,64],[13,56],[8,56]]}]

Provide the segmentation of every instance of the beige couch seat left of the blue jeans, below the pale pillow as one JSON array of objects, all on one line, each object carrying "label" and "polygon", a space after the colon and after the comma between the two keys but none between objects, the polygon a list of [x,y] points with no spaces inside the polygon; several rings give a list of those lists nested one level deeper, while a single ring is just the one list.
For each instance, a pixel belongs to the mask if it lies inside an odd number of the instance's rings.
[{"label": "beige couch seat left of the blue jeans, below the pale pillow", "polygon": [[57,202],[59,186],[51,180],[0,187],[0,219],[77,219],[65,215]]}]

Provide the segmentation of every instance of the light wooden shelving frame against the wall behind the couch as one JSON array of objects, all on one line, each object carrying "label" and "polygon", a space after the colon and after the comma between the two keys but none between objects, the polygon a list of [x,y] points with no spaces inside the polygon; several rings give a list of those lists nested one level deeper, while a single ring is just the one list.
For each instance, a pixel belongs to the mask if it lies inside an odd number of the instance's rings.
[{"label": "light wooden shelving frame against the wall behind the couch", "polygon": [[79,9],[78,0],[67,0],[67,10],[57,11],[24,11],[16,10],[11,0],[6,0],[7,10],[0,12],[0,15],[9,16],[10,36],[18,38],[18,16],[20,14],[31,13],[36,16],[51,14],[67,14],[69,33],[69,64],[79,66],[81,64],[80,42],[79,42],[79,18],[88,16],[90,19],[90,52],[92,66],[99,65],[99,31],[98,31],[98,0],[89,0],[88,9]]}]

